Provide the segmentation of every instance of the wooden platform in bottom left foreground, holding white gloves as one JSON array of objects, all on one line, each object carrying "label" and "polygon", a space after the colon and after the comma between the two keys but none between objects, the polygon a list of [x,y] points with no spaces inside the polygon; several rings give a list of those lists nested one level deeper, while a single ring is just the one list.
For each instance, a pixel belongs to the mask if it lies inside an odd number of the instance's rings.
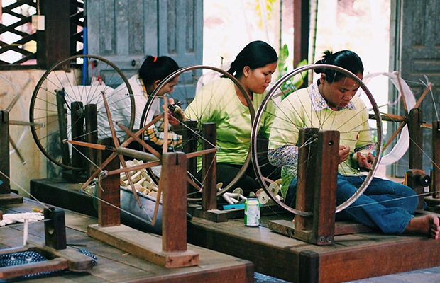
[{"label": "wooden platform in bottom left foreground, holding white gloves", "polygon": [[[1,207],[6,213],[29,212],[32,208],[43,209],[43,205],[33,200],[23,204]],[[230,255],[206,248],[188,245],[199,253],[199,265],[182,268],[163,268],[146,260],[141,260],[122,250],[108,246],[87,236],[87,226],[97,224],[97,219],[84,214],[65,211],[68,248],[85,248],[97,256],[97,265],[90,272],[59,272],[43,278],[29,279],[37,282],[253,282],[253,264]],[[0,228],[0,248],[10,248],[23,244],[23,226]],[[29,224],[29,240],[44,241],[43,222]],[[160,238],[160,236],[155,236]],[[136,238],[133,238],[136,241]],[[22,282],[22,281],[21,281]]]}]

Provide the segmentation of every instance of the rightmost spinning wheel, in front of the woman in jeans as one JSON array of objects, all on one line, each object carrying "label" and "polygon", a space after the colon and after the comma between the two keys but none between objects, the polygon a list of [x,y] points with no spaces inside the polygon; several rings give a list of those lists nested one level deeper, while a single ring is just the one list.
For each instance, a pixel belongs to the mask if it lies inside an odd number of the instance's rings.
[{"label": "rightmost spinning wheel, in front of the woman in jeans", "polygon": [[[294,121],[290,120],[289,115],[287,112],[285,112],[285,106],[281,106],[282,100],[285,100],[287,98],[292,98],[292,96],[298,96],[298,90],[294,87],[293,81],[297,78],[297,76],[305,76],[307,73],[309,75],[313,74],[314,69],[331,69],[334,71],[338,71],[344,75],[346,75],[348,78],[353,79],[359,86],[359,89],[356,93],[356,96],[353,97],[351,100],[352,102],[356,101],[356,105],[363,105],[362,107],[356,107],[355,110],[349,111],[351,112],[351,117],[348,116],[340,116],[337,115],[337,111],[333,111],[332,115],[325,115],[323,117],[302,117],[302,121]],[[315,80],[317,78],[314,78]],[[307,99],[309,99],[309,88],[307,88]],[[305,96],[303,96],[305,97]],[[310,99],[309,99],[310,100]],[[305,107],[311,107],[311,106],[304,106],[302,102],[299,103],[291,103],[291,99],[286,100],[284,105],[288,105],[289,108],[291,108],[292,112],[300,112],[302,108]],[[305,100],[304,100],[305,101]],[[310,103],[309,103],[310,104]],[[309,112],[312,112],[312,109],[306,109],[309,110]],[[348,112],[348,111],[347,111]],[[346,113],[347,113],[346,112]],[[258,135],[259,132],[259,125],[260,120],[263,115],[275,115],[275,119],[279,118],[283,122],[284,125],[288,125],[288,127],[285,128],[277,128],[276,130],[279,132],[282,131],[293,131],[298,133],[299,127],[304,127],[302,124],[305,120],[312,122],[312,127],[318,128],[318,129],[330,129],[330,130],[338,130],[341,132],[335,125],[343,125],[345,122],[350,121],[356,115],[363,115],[363,117],[368,117],[368,113],[370,114],[370,119],[373,118],[373,120],[369,121],[369,127],[370,131],[374,134],[374,137],[372,139],[372,146],[373,148],[370,148],[372,151],[375,151],[374,160],[371,166],[370,171],[366,173],[365,180],[363,184],[358,188],[358,191],[351,196],[346,202],[343,202],[343,204],[340,204],[338,207],[336,207],[336,212],[341,211],[342,209],[345,209],[350,204],[355,202],[357,198],[363,193],[363,191],[368,187],[371,179],[373,178],[373,175],[377,169],[378,163],[380,161],[380,154],[382,151],[382,121],[380,117],[380,112],[378,110],[378,106],[375,103],[375,100],[368,90],[368,88],[365,86],[365,84],[358,79],[357,76],[353,75],[351,72],[347,71],[346,69],[342,69],[340,67],[335,67],[332,65],[308,65],[305,67],[301,67],[299,69],[295,69],[290,74],[286,74],[283,76],[279,81],[275,83],[273,88],[270,89],[268,92],[268,95],[263,100],[263,103],[261,104],[260,108],[258,108],[258,111],[255,115],[255,122],[253,123],[253,130],[251,135],[251,153],[252,153],[252,161],[255,168],[255,173],[258,176],[258,180],[260,181],[260,184],[263,186],[263,189],[268,194],[268,196],[275,201],[277,204],[279,204],[281,207],[286,209],[288,212],[292,212],[294,214],[299,214],[301,216],[309,216],[308,212],[301,212],[297,209],[294,209],[290,207],[288,204],[285,203],[285,197],[287,194],[287,186],[289,185],[282,184],[280,190],[277,185],[274,185],[275,180],[271,180],[269,175],[263,175],[261,171],[261,167],[264,166],[264,164],[260,163],[258,160],[258,156],[267,156],[268,154],[268,146],[267,146],[267,140],[261,139]],[[344,122],[341,122],[344,121]],[[305,123],[305,122],[304,122]],[[274,131],[274,125],[272,125],[273,131]],[[307,126],[309,127],[309,126]],[[353,130],[355,132],[358,132],[359,130],[362,131],[363,125],[354,125]],[[351,131],[348,132],[341,132],[341,144],[348,140],[344,139],[358,139],[358,136],[355,134],[351,134]],[[359,140],[361,141],[361,140]],[[314,142],[314,140],[310,140],[309,142]],[[361,141],[364,144],[368,144],[369,141]],[[353,149],[351,149],[353,150]],[[346,161],[343,162],[343,166],[346,165],[344,168],[348,168],[350,166],[353,166],[353,161],[351,161],[351,158],[348,158]],[[299,164],[298,166],[301,166]],[[341,165],[340,165],[341,168]],[[284,169],[284,168],[283,168]],[[295,174],[296,168],[292,168],[292,171],[290,171],[288,174]],[[292,176],[291,176],[292,178]]]}]

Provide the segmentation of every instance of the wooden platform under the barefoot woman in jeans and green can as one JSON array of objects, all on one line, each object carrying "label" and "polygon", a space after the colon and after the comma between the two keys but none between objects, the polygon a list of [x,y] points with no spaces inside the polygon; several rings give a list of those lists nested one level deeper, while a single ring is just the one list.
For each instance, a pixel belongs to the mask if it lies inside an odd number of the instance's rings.
[{"label": "wooden platform under the barefoot woman in jeans and green can", "polygon": [[256,272],[297,283],[346,282],[440,266],[440,240],[427,236],[356,233],[336,236],[331,246],[315,246],[271,231],[268,220],[246,227],[243,219],[214,223],[194,217],[188,242],[251,260]]}]

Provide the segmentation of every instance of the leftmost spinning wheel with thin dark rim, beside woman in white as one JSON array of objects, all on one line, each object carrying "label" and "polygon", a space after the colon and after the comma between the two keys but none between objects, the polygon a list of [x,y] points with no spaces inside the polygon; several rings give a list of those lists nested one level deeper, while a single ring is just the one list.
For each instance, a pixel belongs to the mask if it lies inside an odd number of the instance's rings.
[{"label": "leftmost spinning wheel with thin dark rim, beside woman in white", "polygon": [[[127,117],[114,117],[114,121],[128,120],[124,124],[132,129],[135,105],[131,86],[122,71],[107,59],[76,55],[63,59],[43,74],[33,91],[29,119],[33,123],[33,139],[50,161],[81,171],[84,164],[72,161],[77,149],[62,141],[111,137],[108,124],[96,127],[99,121],[106,121],[102,93],[110,107],[117,103],[126,105]],[[96,111],[98,121],[88,120],[88,111]]]}]

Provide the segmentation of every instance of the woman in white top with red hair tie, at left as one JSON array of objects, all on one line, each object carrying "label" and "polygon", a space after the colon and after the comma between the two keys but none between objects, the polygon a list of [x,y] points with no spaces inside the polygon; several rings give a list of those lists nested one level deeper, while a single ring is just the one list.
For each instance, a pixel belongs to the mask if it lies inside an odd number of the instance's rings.
[{"label": "woman in white top with red hair tie, at left", "polygon": [[[143,113],[143,109],[147,104],[148,98],[151,93],[155,90],[155,88],[159,85],[160,81],[165,79],[168,75],[172,74],[174,71],[177,71],[179,66],[175,62],[174,59],[167,56],[153,57],[147,56],[145,57],[141,68],[138,71],[138,74],[132,76],[128,79],[128,83],[133,90],[133,97],[135,100],[135,121],[133,125],[133,130],[140,129],[143,125],[140,125],[141,117]],[[177,80],[179,77],[175,77],[172,81],[167,83],[165,86],[160,88],[160,93],[158,93],[158,97],[162,97],[165,93],[172,93],[174,91],[174,87],[177,84]],[[131,109],[130,105],[122,105],[123,101],[121,96],[125,96],[127,93],[127,89],[125,86],[121,85],[116,88],[111,96],[109,96],[109,107],[111,110],[111,115],[114,117],[114,122],[120,122],[122,125],[130,124],[131,117]],[[145,123],[153,120],[153,117],[160,114],[160,100],[153,100],[153,105],[150,108],[150,111],[147,113],[147,117],[145,119]],[[98,118],[99,125],[101,129],[108,129],[109,122],[107,117],[104,115],[99,115]],[[160,128],[160,122],[156,125],[152,125],[149,129],[147,129],[145,139],[150,141],[150,144],[153,146],[157,145],[161,146],[163,144],[163,129]],[[123,139],[126,136],[126,133],[123,132],[119,127],[115,127],[116,134],[118,137]],[[110,136],[109,132],[101,132],[101,137]],[[181,143],[181,137],[173,132],[168,132],[168,145],[169,146],[177,146]],[[133,145],[131,145],[132,147]]]}]

